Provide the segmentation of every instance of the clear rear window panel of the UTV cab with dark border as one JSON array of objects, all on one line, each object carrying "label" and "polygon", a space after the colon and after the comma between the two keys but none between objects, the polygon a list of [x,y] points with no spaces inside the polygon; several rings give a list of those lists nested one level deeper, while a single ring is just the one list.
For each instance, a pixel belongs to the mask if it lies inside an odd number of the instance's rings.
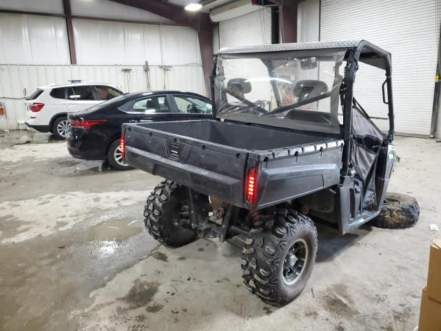
[{"label": "clear rear window panel of the UTV cab with dark border", "polygon": [[339,73],[345,50],[220,54],[220,118],[298,130],[340,132]]}]

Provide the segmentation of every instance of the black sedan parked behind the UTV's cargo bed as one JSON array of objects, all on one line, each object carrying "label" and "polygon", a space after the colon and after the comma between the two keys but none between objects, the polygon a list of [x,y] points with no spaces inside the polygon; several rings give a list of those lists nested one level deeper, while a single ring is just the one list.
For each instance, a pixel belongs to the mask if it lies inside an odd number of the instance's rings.
[{"label": "black sedan parked behind the UTV's cargo bed", "polygon": [[118,170],[132,169],[123,161],[121,125],[140,121],[181,121],[212,117],[212,103],[192,92],[157,90],[125,93],[81,112],[70,112],[68,150],[84,160],[107,160]]}]

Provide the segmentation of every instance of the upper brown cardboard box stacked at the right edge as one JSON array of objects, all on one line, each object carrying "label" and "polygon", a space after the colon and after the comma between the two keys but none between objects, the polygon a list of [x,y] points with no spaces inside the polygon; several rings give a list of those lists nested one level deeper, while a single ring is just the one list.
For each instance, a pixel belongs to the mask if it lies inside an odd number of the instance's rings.
[{"label": "upper brown cardboard box stacked at the right edge", "polygon": [[435,239],[430,246],[427,294],[430,299],[441,303],[441,237]]}]

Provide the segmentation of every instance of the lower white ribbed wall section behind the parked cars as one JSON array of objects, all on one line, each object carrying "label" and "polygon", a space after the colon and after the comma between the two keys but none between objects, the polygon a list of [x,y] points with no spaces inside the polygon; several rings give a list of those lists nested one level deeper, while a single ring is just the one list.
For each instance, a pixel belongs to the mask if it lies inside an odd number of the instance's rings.
[{"label": "lower white ribbed wall section behind the parked cars", "polygon": [[[129,86],[123,68],[130,68]],[[150,66],[152,89],[163,88],[163,70]],[[143,66],[23,66],[0,65],[0,101],[6,103],[6,117],[0,116],[0,128],[14,130],[18,121],[25,119],[23,100],[2,99],[21,98],[24,89],[30,95],[39,86],[51,83],[67,83],[69,79],[83,79],[89,82],[110,83],[123,91],[146,90],[147,83]],[[183,90],[206,95],[203,70],[201,66],[174,66],[167,72],[166,88]]]}]

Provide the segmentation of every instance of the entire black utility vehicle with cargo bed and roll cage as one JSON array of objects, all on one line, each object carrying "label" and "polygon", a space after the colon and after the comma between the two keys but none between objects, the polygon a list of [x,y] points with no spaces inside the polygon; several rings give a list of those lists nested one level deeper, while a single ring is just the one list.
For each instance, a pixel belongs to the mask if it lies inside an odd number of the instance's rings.
[{"label": "entire black utility vehicle with cargo bed and roll cage", "polygon": [[[360,62],[384,70],[387,134],[353,97]],[[314,266],[314,222],[345,234],[380,214],[397,159],[391,54],[364,40],[291,43],[223,48],[214,63],[213,118],[126,123],[125,160],[167,178],[145,205],[154,238],[240,243],[249,290],[285,303]]]}]

